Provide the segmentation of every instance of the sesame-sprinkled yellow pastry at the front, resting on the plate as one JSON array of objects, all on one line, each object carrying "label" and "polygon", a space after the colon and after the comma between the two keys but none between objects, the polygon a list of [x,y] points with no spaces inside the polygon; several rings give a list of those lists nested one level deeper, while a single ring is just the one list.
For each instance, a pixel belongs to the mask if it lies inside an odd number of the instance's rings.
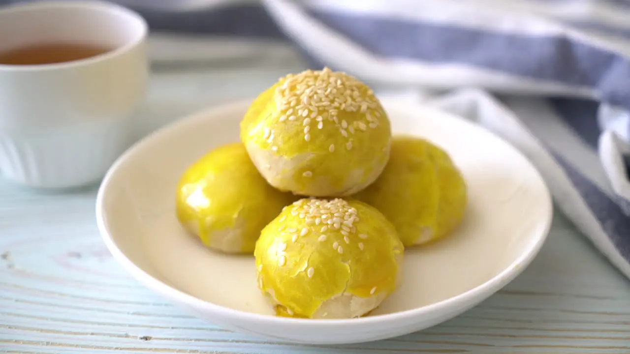
[{"label": "sesame-sprinkled yellow pastry at the front, resting on the plate", "polygon": [[279,316],[364,316],[402,279],[404,247],[394,226],[358,200],[304,198],[261,232],[258,287]]}]

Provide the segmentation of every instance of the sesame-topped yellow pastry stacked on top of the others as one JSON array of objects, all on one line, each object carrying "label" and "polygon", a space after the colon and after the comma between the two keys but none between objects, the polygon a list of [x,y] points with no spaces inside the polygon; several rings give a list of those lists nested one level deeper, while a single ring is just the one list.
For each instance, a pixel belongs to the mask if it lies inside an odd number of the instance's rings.
[{"label": "sesame-topped yellow pastry stacked on top of the others", "polygon": [[381,174],[391,127],[368,86],[325,68],[287,75],[261,93],[241,122],[241,140],[279,190],[335,197]]}]

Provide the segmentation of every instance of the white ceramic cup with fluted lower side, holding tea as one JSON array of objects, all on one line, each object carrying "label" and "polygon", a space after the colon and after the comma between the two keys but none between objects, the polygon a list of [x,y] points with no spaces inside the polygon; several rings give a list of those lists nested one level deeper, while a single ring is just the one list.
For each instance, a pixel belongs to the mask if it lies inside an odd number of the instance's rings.
[{"label": "white ceramic cup with fluted lower side, holding tea", "polygon": [[0,8],[0,53],[30,45],[110,49],[88,59],[0,64],[0,171],[40,188],[99,181],[134,139],[144,100],[147,24],[102,1],[42,1]]}]

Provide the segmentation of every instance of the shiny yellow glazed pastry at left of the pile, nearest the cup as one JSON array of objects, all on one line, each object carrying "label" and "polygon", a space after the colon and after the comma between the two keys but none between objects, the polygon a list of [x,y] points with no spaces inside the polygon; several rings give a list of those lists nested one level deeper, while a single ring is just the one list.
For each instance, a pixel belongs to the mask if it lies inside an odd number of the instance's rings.
[{"label": "shiny yellow glazed pastry at left of the pile, nearest the cup", "polygon": [[176,212],[181,225],[209,248],[253,253],[263,227],[295,199],[266,183],[243,144],[227,144],[181,176]]}]

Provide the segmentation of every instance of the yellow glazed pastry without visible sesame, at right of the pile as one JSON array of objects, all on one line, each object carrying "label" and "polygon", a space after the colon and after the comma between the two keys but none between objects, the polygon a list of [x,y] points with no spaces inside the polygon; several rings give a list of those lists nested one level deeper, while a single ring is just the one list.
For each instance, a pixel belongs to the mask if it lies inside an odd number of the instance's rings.
[{"label": "yellow glazed pastry without visible sesame, at right of the pile", "polygon": [[405,247],[449,234],[464,217],[467,188],[447,152],[427,140],[394,137],[386,168],[354,196],[376,207]]}]

